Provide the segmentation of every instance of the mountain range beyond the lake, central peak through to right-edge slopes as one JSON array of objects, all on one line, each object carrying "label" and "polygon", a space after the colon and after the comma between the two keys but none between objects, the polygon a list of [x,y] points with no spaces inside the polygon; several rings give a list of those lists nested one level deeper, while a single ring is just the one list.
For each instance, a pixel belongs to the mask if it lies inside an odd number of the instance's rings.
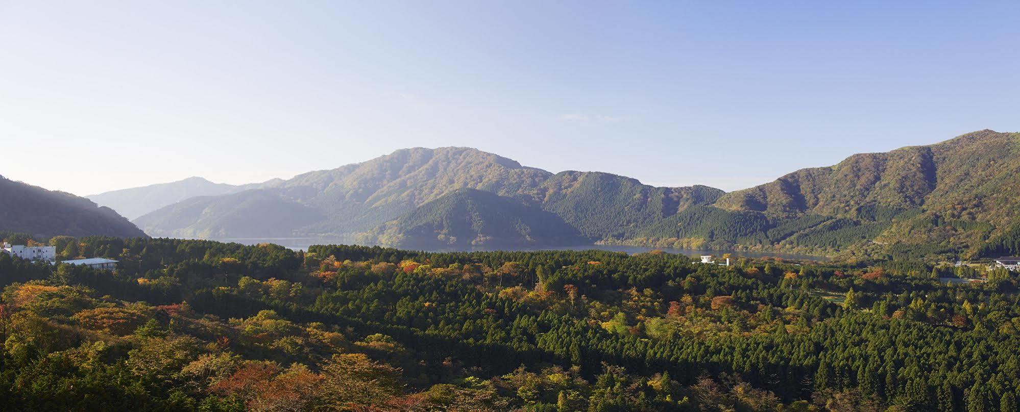
[{"label": "mountain range beyond the lake, central peak through to right-edge slopes", "polygon": [[552,173],[471,148],[413,148],[286,181],[216,187],[220,194],[175,192],[201,196],[134,221],[160,237],[356,235],[420,248],[601,242],[850,258],[973,255],[1020,234],[1018,154],[1020,134],[985,130],[724,193]]}]

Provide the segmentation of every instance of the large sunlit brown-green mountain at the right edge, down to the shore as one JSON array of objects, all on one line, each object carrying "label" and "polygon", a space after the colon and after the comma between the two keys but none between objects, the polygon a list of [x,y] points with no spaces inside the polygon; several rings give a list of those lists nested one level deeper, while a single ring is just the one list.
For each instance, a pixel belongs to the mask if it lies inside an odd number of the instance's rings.
[{"label": "large sunlit brown-green mountain at the right edge, down to the shore", "polygon": [[847,256],[981,254],[985,242],[1009,237],[1020,222],[1018,154],[1020,134],[992,131],[857,154],[725,194],[704,217],[678,214],[634,242]]}]

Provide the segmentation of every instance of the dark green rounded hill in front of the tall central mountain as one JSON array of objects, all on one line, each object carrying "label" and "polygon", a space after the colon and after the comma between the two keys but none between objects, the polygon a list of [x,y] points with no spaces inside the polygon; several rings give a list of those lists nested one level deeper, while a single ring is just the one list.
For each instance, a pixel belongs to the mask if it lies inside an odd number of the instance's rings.
[{"label": "dark green rounded hill in front of the tall central mountain", "polygon": [[519,200],[474,189],[460,189],[426,202],[362,239],[386,246],[537,247],[585,243],[559,216]]}]

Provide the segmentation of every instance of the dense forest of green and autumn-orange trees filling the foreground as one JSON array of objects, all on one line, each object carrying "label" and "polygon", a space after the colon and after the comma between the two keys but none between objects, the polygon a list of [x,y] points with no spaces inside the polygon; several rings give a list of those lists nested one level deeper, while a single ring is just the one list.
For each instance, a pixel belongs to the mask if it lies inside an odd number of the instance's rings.
[{"label": "dense forest of green and autumn-orange trees filling the foreground", "polygon": [[1018,410],[1005,269],[48,242],[119,263],[0,253],[3,410]]}]

